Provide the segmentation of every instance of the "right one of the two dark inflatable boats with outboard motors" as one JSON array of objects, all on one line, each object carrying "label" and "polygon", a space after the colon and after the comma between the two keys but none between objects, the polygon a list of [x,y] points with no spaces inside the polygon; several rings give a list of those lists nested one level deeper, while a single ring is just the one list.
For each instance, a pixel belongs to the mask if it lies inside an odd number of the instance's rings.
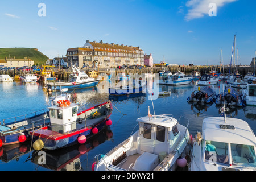
[{"label": "right one of the two dark inflatable boats with outboard motors", "polygon": [[[225,103],[224,103],[225,102]],[[226,105],[226,106],[245,106],[242,97],[237,94],[233,88],[226,87],[224,92],[220,93],[216,97],[216,105]]]}]

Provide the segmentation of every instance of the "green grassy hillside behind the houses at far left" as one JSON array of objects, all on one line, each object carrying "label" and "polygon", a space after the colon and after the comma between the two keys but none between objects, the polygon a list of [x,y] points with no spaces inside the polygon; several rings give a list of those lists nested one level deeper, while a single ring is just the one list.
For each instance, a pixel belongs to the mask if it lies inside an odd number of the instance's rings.
[{"label": "green grassy hillside behind the houses at far left", "polygon": [[39,65],[46,64],[48,57],[42,52],[39,52],[36,48],[0,48],[0,59],[9,59],[15,57],[15,59],[24,59],[27,57],[34,61],[34,63],[39,63]]}]

